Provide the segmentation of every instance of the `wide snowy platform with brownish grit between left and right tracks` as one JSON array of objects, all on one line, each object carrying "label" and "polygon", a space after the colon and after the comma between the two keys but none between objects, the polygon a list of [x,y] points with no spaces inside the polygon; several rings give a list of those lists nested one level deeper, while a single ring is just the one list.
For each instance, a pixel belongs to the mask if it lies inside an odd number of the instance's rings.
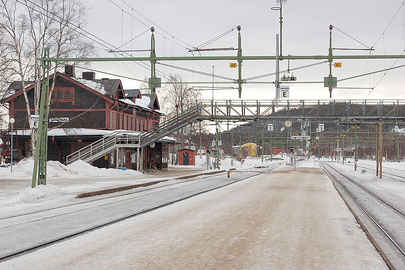
[{"label": "wide snowy platform with brownish grit between left and right tracks", "polygon": [[23,267],[387,268],[331,180],[302,166],[282,166],[0,263]]}]

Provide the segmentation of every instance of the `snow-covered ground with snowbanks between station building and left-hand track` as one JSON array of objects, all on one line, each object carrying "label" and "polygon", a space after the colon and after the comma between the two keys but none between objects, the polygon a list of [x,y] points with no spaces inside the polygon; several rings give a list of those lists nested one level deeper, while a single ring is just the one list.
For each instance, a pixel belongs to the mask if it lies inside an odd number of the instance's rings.
[{"label": "snow-covered ground with snowbanks between station building and left-hand track", "polygon": [[[168,172],[143,174],[134,170],[100,169],[83,161],[76,161],[65,166],[56,161],[47,163],[47,185],[31,188],[33,159],[24,159],[13,166],[0,168],[0,208],[3,216],[6,213],[23,209],[34,204],[64,204],[74,201],[75,197],[88,191],[106,188],[141,184],[151,181],[174,179],[184,175],[194,175],[207,172],[205,156],[195,157],[196,166],[169,166]],[[278,161],[272,162],[276,164]],[[261,158],[247,158],[244,164],[230,159],[221,161],[221,170],[248,169],[254,166],[263,166]],[[215,170],[209,170],[209,172]]]}]

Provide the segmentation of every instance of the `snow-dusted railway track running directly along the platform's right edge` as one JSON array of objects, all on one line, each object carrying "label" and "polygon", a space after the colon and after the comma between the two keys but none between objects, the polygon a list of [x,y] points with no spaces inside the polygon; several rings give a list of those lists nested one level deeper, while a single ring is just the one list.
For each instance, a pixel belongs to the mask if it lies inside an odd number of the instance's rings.
[{"label": "snow-dusted railway track running directly along the platform's right edge", "polygon": [[[328,176],[338,183],[363,213],[378,227],[380,232],[401,254],[401,260],[405,262],[405,239],[401,235],[405,227],[404,211],[382,199],[365,186],[353,181],[328,163],[321,162],[320,164]],[[387,264],[390,266],[389,260]]]}]

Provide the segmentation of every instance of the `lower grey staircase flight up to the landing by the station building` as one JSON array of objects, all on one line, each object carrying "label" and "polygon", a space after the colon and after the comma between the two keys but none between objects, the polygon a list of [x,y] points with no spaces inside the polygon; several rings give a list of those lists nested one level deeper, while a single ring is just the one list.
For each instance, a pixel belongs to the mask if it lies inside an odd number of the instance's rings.
[{"label": "lower grey staircase flight up to the landing by the station building", "polygon": [[139,132],[115,131],[108,136],[71,153],[71,155],[66,157],[66,165],[77,160],[83,160],[84,162],[90,163],[121,147],[140,147],[140,141]]}]

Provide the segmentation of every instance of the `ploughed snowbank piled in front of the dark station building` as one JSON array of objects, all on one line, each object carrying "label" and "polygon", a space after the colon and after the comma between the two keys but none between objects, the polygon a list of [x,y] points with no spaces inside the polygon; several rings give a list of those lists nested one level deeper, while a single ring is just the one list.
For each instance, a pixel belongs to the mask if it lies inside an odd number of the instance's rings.
[{"label": "ploughed snowbank piled in front of the dark station building", "polygon": [[[26,179],[32,177],[34,168],[34,159],[23,159],[13,166],[13,172],[9,168],[0,168],[0,177],[2,178],[20,178]],[[94,175],[142,175],[141,172],[134,170],[116,170],[94,167],[84,161],[78,160],[68,166],[58,161],[47,162],[47,178],[79,178],[83,176]]]}]

